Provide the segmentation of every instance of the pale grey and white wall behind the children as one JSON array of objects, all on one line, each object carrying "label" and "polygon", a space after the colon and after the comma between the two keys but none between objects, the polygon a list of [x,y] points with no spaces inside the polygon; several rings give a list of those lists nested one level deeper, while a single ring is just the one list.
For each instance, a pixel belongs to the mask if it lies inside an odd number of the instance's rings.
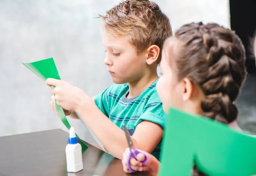
[{"label": "pale grey and white wall behind the children", "polygon": [[[53,57],[61,79],[89,96],[112,84],[103,63],[101,19],[94,17],[119,2],[0,0],[0,136],[66,129],[51,111],[50,88],[20,62]],[[173,31],[184,23],[201,20],[230,25],[228,0],[155,2],[169,16]],[[81,122],[70,122],[86,138]]]}]

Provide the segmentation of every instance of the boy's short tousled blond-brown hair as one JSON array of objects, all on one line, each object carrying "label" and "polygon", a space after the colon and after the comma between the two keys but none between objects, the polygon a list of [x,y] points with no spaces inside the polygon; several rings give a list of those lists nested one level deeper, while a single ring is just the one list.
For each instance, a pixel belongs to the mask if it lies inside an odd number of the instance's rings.
[{"label": "boy's short tousled blond-brown hair", "polygon": [[157,64],[161,60],[164,40],[172,35],[169,18],[159,6],[149,0],[126,0],[100,15],[103,29],[111,34],[128,36],[137,53],[145,51],[150,45],[160,48]]}]

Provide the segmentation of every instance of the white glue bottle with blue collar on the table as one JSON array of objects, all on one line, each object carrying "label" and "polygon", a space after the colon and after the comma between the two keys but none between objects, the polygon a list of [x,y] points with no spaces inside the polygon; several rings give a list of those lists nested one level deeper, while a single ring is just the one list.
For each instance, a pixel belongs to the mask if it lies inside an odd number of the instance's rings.
[{"label": "white glue bottle with blue collar on the table", "polygon": [[66,146],[67,172],[76,173],[83,169],[82,147],[77,142],[75,129],[70,128],[70,136]]}]

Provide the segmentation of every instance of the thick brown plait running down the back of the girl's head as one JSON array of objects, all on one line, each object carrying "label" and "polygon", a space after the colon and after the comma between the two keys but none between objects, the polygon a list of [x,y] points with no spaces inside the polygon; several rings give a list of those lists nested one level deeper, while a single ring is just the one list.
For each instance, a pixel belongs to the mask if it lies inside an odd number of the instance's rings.
[{"label": "thick brown plait running down the back of the girl's head", "polygon": [[[202,115],[230,123],[238,114],[233,101],[239,94],[242,82],[241,69],[236,63],[237,56],[241,57],[241,51],[233,44],[234,34],[231,31],[221,27],[213,30],[203,34],[203,43],[209,50],[209,71],[201,84],[206,95],[201,102],[204,111]],[[214,37],[216,34],[220,36]]]}]

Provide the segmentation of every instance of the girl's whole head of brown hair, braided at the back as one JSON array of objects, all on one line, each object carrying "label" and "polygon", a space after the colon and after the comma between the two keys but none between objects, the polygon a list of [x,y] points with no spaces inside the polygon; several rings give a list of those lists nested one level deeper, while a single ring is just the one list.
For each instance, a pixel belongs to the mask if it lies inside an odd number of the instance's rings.
[{"label": "girl's whole head of brown hair, braided at the back", "polygon": [[[233,104],[244,82],[244,46],[236,34],[218,24],[190,23],[175,33],[178,80],[184,77],[204,92],[203,116],[222,123],[236,120]],[[194,169],[193,176],[203,176]]]}]

